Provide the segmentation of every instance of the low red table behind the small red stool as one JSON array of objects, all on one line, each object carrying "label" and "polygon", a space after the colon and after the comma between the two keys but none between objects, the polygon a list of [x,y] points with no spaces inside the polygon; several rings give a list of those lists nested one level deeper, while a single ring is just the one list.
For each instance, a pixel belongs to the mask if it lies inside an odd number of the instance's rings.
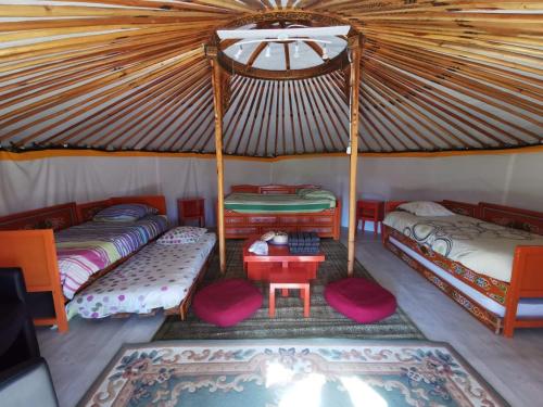
[{"label": "low red table behind the small red stool", "polygon": [[290,254],[288,245],[268,244],[268,254],[261,256],[249,252],[249,246],[257,239],[260,236],[253,236],[243,245],[243,269],[250,280],[269,281],[272,272],[295,272],[306,281],[317,278],[318,264],[325,260],[323,253]]}]

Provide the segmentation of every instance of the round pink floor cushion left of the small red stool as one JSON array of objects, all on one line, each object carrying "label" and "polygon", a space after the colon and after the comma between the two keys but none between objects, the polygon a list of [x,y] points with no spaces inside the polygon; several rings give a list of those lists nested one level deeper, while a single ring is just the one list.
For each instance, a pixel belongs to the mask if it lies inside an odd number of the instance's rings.
[{"label": "round pink floor cushion left of the small red stool", "polygon": [[202,320],[231,327],[249,318],[262,306],[261,291],[243,279],[227,279],[210,284],[194,295],[192,309]]}]

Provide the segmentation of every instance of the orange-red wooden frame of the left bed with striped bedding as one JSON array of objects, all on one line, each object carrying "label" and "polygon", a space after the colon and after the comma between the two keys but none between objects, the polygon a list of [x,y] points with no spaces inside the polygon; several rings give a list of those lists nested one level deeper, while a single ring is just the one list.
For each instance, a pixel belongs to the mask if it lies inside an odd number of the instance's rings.
[{"label": "orange-red wooden frame of the left bed with striped bedding", "polygon": [[[144,203],[166,214],[166,200],[162,195],[116,196],[109,200],[77,205],[75,202],[23,212],[0,217],[0,267],[20,267],[29,293],[50,292],[54,316],[35,318],[37,326],[56,325],[60,332],[67,332],[68,321],[62,292],[53,231],[90,220],[104,207],[119,203]],[[128,257],[91,276],[81,291],[92,281],[104,276]]]}]

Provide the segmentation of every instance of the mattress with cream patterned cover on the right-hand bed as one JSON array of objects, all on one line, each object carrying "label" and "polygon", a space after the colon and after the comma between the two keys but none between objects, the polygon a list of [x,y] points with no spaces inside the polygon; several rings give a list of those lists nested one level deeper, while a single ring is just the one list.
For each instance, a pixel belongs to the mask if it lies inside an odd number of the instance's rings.
[{"label": "mattress with cream patterned cover on the right-hand bed", "polygon": [[395,211],[383,224],[471,270],[510,282],[515,247],[543,245],[543,237],[468,216],[415,216]]}]

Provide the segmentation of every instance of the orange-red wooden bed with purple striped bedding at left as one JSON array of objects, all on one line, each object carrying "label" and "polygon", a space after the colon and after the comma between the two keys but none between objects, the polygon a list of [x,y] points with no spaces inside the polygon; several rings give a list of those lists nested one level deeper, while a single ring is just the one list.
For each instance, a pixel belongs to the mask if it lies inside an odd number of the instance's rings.
[{"label": "orange-red wooden bed with purple striped bedding at left", "polygon": [[[99,211],[143,203],[157,214],[132,226],[89,221]],[[119,196],[67,203],[0,218],[0,265],[21,267],[36,325],[68,329],[65,302],[167,229],[164,196]]]}]

